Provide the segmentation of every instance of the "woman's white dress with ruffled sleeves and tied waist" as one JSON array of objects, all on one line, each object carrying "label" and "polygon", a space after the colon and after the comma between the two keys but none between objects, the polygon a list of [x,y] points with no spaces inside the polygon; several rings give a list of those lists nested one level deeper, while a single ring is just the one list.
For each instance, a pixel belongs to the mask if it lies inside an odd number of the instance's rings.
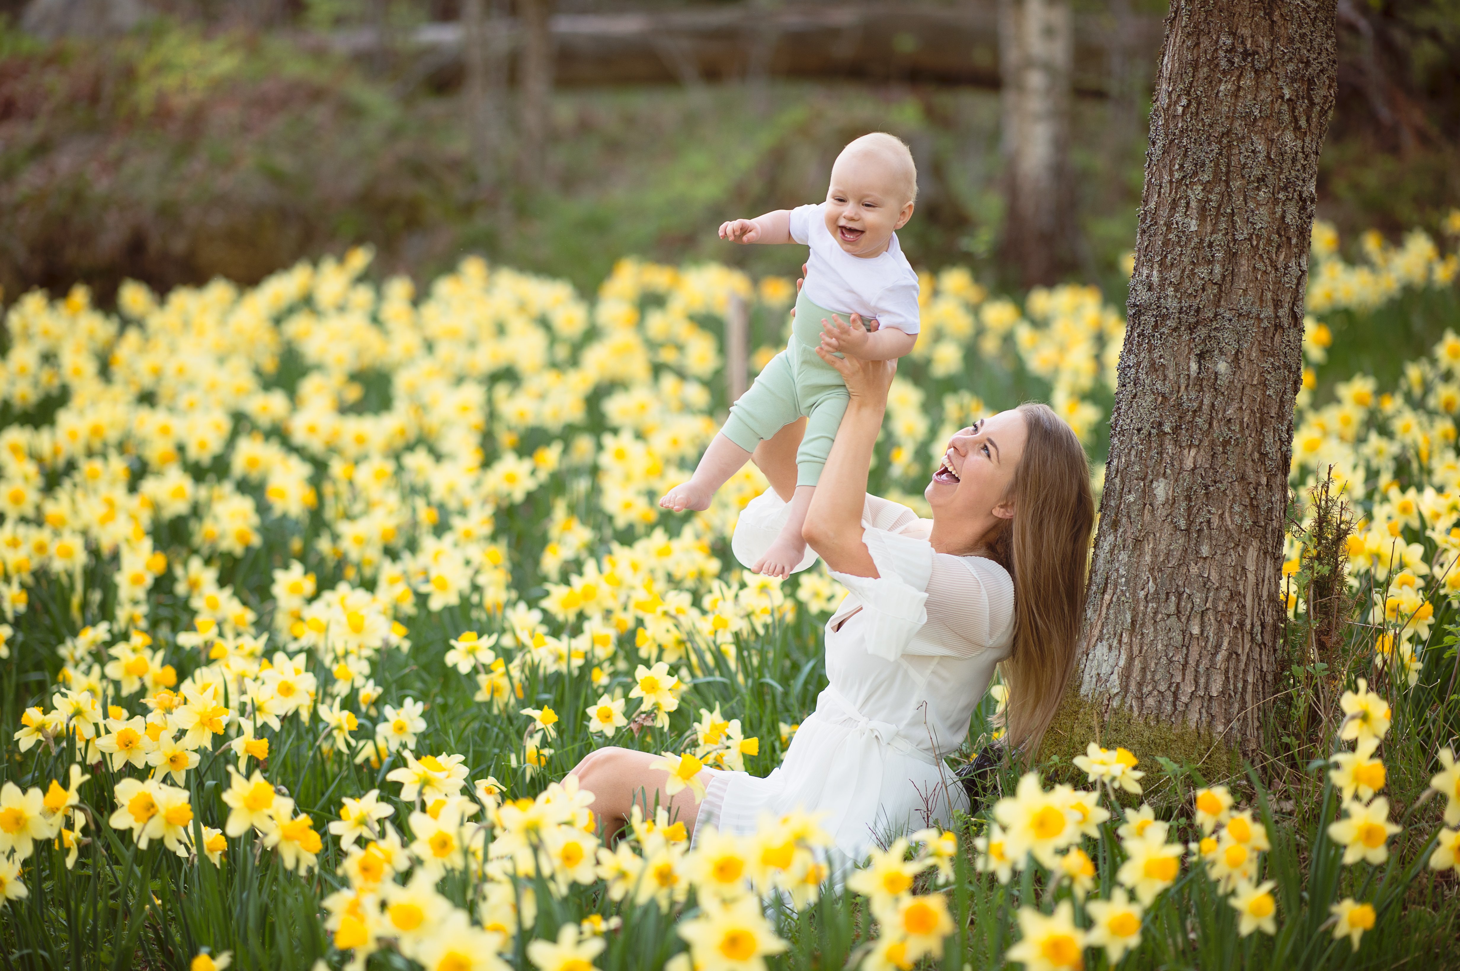
[{"label": "woman's white dress with ruffled sleeves and tied waist", "polygon": [[[742,561],[764,553],[784,507],[772,490],[746,506],[734,542]],[[831,684],[816,711],[765,779],[705,770],[696,832],[752,834],[762,815],[799,808],[823,814],[837,849],[861,860],[968,805],[943,758],[962,745],[1009,655],[1013,580],[993,560],[933,553],[931,520],[907,506],[869,496],[861,525],[879,576],[832,572],[850,592],[826,621]]]}]

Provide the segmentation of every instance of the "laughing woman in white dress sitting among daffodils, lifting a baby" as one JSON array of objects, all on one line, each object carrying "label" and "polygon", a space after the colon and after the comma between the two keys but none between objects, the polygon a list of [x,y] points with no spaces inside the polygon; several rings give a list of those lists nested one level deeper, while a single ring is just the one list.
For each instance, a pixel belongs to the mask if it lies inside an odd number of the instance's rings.
[{"label": "laughing woman in white dress sitting among daffodils, lifting a baby", "polygon": [[[1048,407],[1025,404],[961,430],[924,496],[933,519],[867,496],[895,362],[818,353],[850,401],[803,535],[850,590],[826,623],[829,687],[765,779],[705,770],[705,796],[664,792],[654,755],[603,748],[574,774],[613,834],[637,800],[667,805],[691,832],[753,832],[762,814],[821,812],[838,850],[861,859],[889,835],[946,822],[967,805],[943,758],[968,735],[1003,665],[1007,738],[1034,752],[1064,693],[1085,595],[1094,504],[1079,440]],[[780,439],[781,436],[777,436]],[[758,464],[772,490],[736,526],[774,537],[794,490],[794,426]],[[778,493],[778,494],[777,494]],[[764,539],[762,539],[764,542]]]}]

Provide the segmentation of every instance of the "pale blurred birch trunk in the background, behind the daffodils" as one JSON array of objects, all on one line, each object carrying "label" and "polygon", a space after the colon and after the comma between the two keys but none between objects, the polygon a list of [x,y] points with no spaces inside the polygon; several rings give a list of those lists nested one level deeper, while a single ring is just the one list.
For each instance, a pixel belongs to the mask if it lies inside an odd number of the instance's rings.
[{"label": "pale blurred birch trunk in the background, behind the daffodils", "polygon": [[1025,286],[1070,267],[1070,85],[1075,20],[1069,0],[1000,0],[1004,254]]}]

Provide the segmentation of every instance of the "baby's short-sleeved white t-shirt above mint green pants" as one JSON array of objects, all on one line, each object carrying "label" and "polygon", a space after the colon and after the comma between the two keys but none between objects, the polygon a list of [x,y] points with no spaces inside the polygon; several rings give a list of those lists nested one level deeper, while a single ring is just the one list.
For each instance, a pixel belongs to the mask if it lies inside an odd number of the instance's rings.
[{"label": "baby's short-sleeved white t-shirt above mint green pants", "polygon": [[876,318],[882,327],[918,332],[917,274],[892,233],[886,252],[853,257],[826,229],[826,203],[791,210],[791,239],[810,246],[806,261],[806,299],[828,311]]}]

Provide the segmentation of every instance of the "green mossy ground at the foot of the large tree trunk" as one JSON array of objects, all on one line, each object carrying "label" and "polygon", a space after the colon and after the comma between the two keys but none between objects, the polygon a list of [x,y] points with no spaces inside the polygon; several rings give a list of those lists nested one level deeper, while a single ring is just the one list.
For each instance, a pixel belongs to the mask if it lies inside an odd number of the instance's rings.
[{"label": "green mossy ground at the foot of the large tree trunk", "polygon": [[1057,765],[1069,765],[1072,758],[1085,754],[1085,746],[1091,742],[1098,742],[1104,748],[1130,749],[1140,761],[1140,768],[1148,773],[1146,793],[1152,803],[1167,802],[1172,796],[1180,798],[1169,786],[1150,784],[1153,776],[1161,773],[1158,757],[1194,768],[1210,784],[1221,781],[1241,784],[1245,774],[1241,752],[1237,746],[1218,739],[1215,733],[1142,717],[1120,704],[1086,698],[1072,687],[1060,703],[1050,730],[1044,735],[1037,761],[1047,764],[1058,757]]}]

